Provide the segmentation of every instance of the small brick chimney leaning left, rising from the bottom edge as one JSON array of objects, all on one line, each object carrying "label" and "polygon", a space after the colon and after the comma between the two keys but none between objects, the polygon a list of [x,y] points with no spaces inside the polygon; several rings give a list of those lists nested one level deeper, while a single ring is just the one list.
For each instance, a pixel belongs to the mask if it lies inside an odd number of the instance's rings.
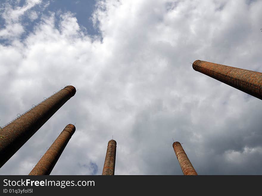
[{"label": "small brick chimney leaning left, rising from the bottom edge", "polygon": [[174,148],[175,154],[177,156],[177,160],[180,164],[183,174],[184,175],[197,175],[197,172],[195,171],[193,165],[191,164],[190,160],[188,159],[187,155],[185,154],[185,151],[183,147],[181,146],[181,144],[179,142],[174,142],[173,148]]}]

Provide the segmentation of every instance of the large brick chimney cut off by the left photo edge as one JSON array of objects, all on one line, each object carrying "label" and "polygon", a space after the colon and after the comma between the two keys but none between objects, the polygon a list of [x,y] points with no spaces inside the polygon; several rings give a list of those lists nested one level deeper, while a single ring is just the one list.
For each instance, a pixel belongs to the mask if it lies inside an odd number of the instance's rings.
[{"label": "large brick chimney cut off by the left photo edge", "polygon": [[0,130],[0,168],[76,93],[67,86]]}]

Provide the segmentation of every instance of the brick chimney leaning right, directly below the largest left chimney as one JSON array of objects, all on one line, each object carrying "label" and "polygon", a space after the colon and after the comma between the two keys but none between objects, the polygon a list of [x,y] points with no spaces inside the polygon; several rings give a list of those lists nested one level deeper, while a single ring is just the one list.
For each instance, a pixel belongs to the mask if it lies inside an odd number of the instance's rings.
[{"label": "brick chimney leaning right, directly below the largest left chimney", "polygon": [[49,175],[75,130],[74,125],[68,124],[29,175]]}]

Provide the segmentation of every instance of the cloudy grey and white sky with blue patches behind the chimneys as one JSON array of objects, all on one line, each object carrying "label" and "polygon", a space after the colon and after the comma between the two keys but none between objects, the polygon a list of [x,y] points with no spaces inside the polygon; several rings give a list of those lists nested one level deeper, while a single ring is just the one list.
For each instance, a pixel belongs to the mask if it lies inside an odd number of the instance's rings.
[{"label": "cloudy grey and white sky with blue patches behind the chimneys", "polygon": [[[0,169],[28,175],[67,124],[51,175],[262,175],[262,102],[192,68],[262,72],[262,1],[1,0],[0,126],[65,85],[69,99]],[[173,139],[172,139],[173,138]]]}]

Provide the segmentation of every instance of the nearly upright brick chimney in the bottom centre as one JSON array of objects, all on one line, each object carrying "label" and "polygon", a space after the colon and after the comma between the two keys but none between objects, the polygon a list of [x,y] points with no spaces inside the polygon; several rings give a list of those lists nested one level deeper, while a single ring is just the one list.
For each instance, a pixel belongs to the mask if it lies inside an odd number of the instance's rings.
[{"label": "nearly upright brick chimney in the bottom centre", "polygon": [[116,162],[116,141],[110,140],[107,145],[105,164],[102,175],[114,175]]}]

